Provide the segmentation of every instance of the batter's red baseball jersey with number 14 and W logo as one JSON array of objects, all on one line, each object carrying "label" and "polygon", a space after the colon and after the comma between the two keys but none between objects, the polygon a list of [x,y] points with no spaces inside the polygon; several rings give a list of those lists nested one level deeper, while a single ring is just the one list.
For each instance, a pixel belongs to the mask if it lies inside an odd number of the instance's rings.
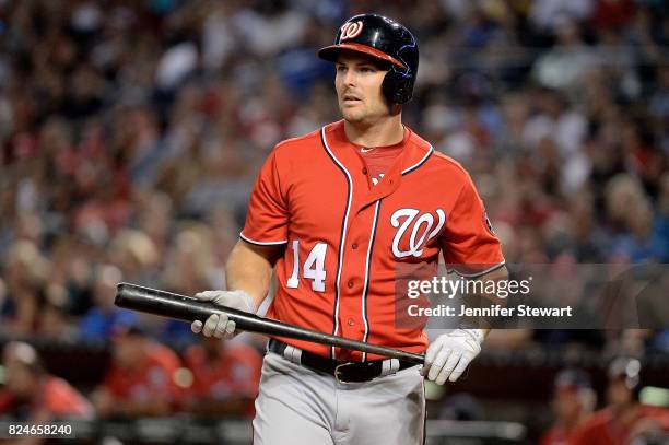
[{"label": "batter's red baseball jersey with number 14 and W logo", "polygon": [[[447,264],[462,265],[455,267],[461,273],[482,274],[504,264],[467,172],[409,129],[402,144],[375,186],[343,121],[274,148],[240,234],[251,244],[285,245],[269,317],[422,352],[424,326],[396,323],[398,301],[407,298],[396,292],[398,271],[429,265],[436,273],[439,253]],[[338,360],[378,359],[280,340]]]}]

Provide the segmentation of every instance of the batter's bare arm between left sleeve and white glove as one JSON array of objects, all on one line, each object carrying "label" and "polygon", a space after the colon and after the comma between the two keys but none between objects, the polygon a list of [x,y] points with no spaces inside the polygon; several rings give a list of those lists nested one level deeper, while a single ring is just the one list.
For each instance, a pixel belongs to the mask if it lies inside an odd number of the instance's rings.
[{"label": "batter's bare arm between left sleeve and white glove", "polygon": [[275,257],[275,248],[251,247],[239,241],[225,265],[227,290],[246,292],[259,307],[269,292]]}]

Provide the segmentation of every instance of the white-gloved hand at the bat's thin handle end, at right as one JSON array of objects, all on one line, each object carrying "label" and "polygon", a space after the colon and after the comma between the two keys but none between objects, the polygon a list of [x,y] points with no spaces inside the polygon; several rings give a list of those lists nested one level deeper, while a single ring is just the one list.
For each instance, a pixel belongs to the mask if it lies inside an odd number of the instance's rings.
[{"label": "white-gloved hand at the bat's thin handle end, at right", "polygon": [[454,329],[437,337],[427,347],[421,375],[437,385],[444,385],[446,379],[457,380],[481,352],[482,342],[481,329]]}]

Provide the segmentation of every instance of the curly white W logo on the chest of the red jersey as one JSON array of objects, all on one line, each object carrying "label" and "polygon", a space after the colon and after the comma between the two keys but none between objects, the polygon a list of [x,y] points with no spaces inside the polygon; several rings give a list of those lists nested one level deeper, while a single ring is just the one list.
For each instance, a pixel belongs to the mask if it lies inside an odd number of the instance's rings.
[{"label": "curly white W logo on the chest of the red jersey", "polygon": [[[397,258],[404,258],[409,256],[420,257],[423,255],[423,246],[444,226],[446,222],[446,213],[444,210],[436,209],[438,221],[435,224],[434,216],[432,213],[423,213],[418,219],[415,218],[420,213],[416,209],[399,209],[390,216],[390,224],[394,227],[399,227],[395,237],[392,238],[392,255]],[[404,219],[403,221],[400,221]],[[412,225],[413,224],[413,225]],[[404,236],[404,233],[409,232],[411,226],[411,235],[409,236],[409,250],[400,249],[400,241]],[[434,229],[432,229],[434,226]]]}]

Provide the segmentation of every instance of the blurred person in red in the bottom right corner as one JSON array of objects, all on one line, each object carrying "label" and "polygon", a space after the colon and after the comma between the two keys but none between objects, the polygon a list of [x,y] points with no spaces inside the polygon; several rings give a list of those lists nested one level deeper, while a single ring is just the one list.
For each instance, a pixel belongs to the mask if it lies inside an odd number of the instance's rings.
[{"label": "blurred person in red in the bottom right corner", "polygon": [[645,444],[645,438],[669,432],[669,410],[638,401],[639,373],[636,359],[619,358],[611,363],[609,405],[578,429],[571,445]]}]

